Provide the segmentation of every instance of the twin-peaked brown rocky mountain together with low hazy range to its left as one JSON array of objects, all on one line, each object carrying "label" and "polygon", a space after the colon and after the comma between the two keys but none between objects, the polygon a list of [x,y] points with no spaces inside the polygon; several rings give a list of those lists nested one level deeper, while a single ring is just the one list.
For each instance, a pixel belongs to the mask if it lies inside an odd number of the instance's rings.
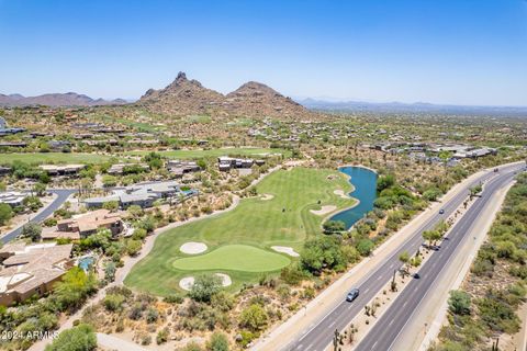
[{"label": "twin-peaked brown rocky mountain together with low hazy range to its left", "polygon": [[[27,98],[21,94],[0,94],[0,105],[4,106],[97,106],[126,103],[122,99],[96,100],[75,92],[49,93]],[[206,114],[303,120],[316,115],[291,98],[287,98],[268,86],[256,81],[249,81],[224,95],[203,87],[198,80],[189,80],[184,72],[179,72],[176,79],[164,89],[147,90],[138,101],[132,104],[155,113],[178,116]]]}]

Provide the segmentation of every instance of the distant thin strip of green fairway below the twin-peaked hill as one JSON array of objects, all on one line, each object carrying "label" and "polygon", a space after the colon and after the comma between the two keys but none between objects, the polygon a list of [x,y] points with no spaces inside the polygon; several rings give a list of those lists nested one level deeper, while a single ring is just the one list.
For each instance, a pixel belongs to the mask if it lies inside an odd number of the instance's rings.
[{"label": "distant thin strip of green fairway below the twin-peaked hill", "polygon": [[[149,151],[128,151],[127,155],[143,156]],[[211,150],[170,150],[170,151],[158,151],[165,157],[173,159],[189,159],[189,158],[203,158],[203,157],[220,157],[220,156],[234,156],[242,155],[248,157],[258,157],[267,154],[282,154],[287,157],[291,156],[291,151],[283,149],[269,149],[269,148],[223,148],[223,149],[211,149]]]}]

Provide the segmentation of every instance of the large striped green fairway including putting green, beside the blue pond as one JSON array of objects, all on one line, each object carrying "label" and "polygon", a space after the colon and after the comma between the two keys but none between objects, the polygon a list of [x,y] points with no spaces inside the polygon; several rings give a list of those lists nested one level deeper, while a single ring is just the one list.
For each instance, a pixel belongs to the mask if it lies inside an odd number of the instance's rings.
[{"label": "large striped green fairway including putting green, beside the blue pond", "polygon": [[[336,176],[335,179],[329,180],[329,174]],[[271,246],[289,246],[301,251],[306,239],[321,233],[324,217],[310,210],[319,210],[322,205],[344,208],[355,203],[335,195],[336,189],[351,191],[345,176],[336,170],[293,168],[276,171],[257,185],[259,194],[272,194],[273,199],[244,199],[225,214],[161,234],[152,252],[126,276],[125,284],[169,295],[179,291],[181,278],[203,272],[231,275],[232,291],[244,283],[257,282],[261,272],[278,272],[287,264],[284,259],[292,260],[272,251]],[[179,248],[188,241],[204,242],[209,250],[200,256],[183,254]],[[239,246],[249,246],[256,251]]]}]

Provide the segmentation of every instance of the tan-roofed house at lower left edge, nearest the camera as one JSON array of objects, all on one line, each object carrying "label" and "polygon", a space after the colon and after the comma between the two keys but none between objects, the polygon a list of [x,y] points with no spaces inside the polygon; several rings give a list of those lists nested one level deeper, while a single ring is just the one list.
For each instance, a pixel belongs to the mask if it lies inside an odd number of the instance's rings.
[{"label": "tan-roofed house at lower left edge, nearest the camera", "polygon": [[74,267],[71,248],[72,245],[13,244],[0,249],[0,305],[11,306],[51,292]]}]

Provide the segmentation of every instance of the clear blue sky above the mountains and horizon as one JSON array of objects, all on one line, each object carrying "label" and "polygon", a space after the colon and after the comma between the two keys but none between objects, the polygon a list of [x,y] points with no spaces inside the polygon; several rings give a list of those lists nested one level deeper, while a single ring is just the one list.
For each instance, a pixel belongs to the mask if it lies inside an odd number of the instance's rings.
[{"label": "clear blue sky above the mountains and horizon", "polygon": [[526,0],[0,0],[0,92],[228,92],[527,105]]}]

